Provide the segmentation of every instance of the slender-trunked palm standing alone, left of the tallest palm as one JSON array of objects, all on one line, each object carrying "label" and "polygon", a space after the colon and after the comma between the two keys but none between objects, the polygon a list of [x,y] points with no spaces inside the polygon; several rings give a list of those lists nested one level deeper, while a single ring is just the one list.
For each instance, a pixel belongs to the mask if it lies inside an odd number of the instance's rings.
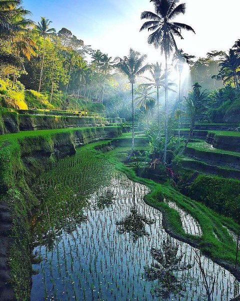
[{"label": "slender-trunked palm standing alone, left of the tallest palm", "polygon": [[143,74],[149,69],[149,65],[144,65],[146,55],[140,55],[139,52],[130,49],[128,56],[124,56],[123,59],[116,58],[118,63],[116,68],[124,75],[127,76],[131,84],[131,110],[132,110],[132,141],[131,141],[131,153],[129,158],[134,152],[134,97],[133,97],[133,85],[136,81],[136,77]]}]

